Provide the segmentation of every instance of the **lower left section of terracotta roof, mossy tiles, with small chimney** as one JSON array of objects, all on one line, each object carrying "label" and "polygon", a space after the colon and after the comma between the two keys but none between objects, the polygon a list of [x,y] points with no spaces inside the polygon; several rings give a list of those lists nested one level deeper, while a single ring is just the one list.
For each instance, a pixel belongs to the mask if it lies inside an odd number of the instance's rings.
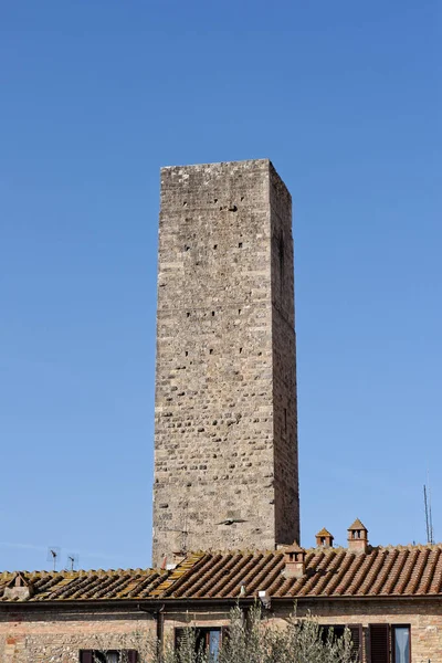
[{"label": "lower left section of terracotta roof, mossy tiles, with small chimney", "polygon": [[[17,572],[0,573],[0,602],[20,601],[6,591],[17,576]],[[29,602],[147,599],[167,576],[167,571],[155,569],[20,572],[32,588]]]}]

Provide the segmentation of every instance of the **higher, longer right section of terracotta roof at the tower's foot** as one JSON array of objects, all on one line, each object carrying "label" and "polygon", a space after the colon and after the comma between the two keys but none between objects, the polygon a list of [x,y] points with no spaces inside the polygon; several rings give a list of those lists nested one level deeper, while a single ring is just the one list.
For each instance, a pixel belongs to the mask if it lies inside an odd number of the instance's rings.
[{"label": "higher, longer right section of terracotta roof at the tower's foot", "polygon": [[[442,544],[369,548],[355,555],[347,548],[306,550],[305,575],[286,578],[284,554],[200,552],[177,568],[177,577],[152,590],[152,598],[233,599],[442,597]],[[178,575],[179,573],[179,575]]]}]

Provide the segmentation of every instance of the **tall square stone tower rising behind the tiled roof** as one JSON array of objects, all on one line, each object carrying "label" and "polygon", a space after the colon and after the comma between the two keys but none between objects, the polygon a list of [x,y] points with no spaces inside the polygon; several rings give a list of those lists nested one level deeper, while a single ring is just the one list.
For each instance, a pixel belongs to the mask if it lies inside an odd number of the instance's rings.
[{"label": "tall square stone tower rising behind the tiled roof", "polygon": [[267,159],[162,168],[154,565],[295,539],[291,196]]}]

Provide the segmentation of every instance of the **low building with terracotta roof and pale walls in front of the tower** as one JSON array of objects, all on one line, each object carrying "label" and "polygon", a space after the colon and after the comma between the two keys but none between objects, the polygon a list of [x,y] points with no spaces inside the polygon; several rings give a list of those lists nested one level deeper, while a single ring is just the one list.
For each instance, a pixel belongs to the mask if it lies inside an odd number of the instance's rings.
[{"label": "low building with terracotta roof and pale walls in front of the tower", "polygon": [[271,628],[295,606],[337,635],[348,627],[360,663],[441,663],[442,545],[371,547],[357,532],[347,548],[326,535],[306,550],[190,554],[167,571],[0,573],[0,661],[151,663],[156,641],[188,625],[222,646],[231,609],[257,602]]}]

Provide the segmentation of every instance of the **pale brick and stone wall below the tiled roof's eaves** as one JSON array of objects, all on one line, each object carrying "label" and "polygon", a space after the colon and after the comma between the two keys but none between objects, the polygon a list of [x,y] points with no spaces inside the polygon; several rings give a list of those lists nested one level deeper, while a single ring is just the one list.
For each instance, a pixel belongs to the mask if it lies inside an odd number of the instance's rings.
[{"label": "pale brick and stone wall below the tiled roof's eaves", "polygon": [[[274,627],[286,623],[294,606],[272,603],[270,612]],[[386,601],[298,601],[297,615],[311,611],[319,623],[355,625],[364,629],[362,663],[370,663],[369,624],[409,624],[411,628],[411,663],[441,663],[442,604],[435,600]],[[187,624],[222,627],[229,624],[229,608],[207,608],[201,611],[189,607],[165,613],[165,642],[173,642],[176,628]],[[151,649],[156,640],[156,620],[139,611],[62,610],[55,611],[14,608],[0,613],[1,663],[77,663],[81,649]]]}]

